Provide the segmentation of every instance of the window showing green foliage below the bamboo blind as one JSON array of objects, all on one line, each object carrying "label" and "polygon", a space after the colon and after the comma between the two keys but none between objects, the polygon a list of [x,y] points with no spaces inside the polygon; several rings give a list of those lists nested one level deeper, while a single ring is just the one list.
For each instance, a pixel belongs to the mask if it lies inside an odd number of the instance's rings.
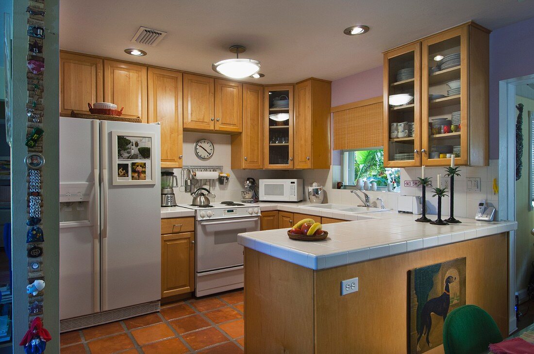
[{"label": "window showing green foliage below the bamboo blind", "polygon": [[392,180],[400,184],[400,168],[384,167],[383,149],[343,151],[342,171],[345,186],[355,186],[357,179],[376,182],[379,190],[386,190]]}]

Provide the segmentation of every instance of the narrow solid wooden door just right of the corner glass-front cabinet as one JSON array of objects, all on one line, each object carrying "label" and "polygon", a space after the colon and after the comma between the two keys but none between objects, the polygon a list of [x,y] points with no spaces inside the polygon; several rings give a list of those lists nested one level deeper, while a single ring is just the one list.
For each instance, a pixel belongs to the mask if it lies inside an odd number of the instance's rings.
[{"label": "narrow solid wooden door just right of the corner glass-front cabinet", "polygon": [[295,168],[311,168],[313,127],[311,119],[312,81],[295,87],[294,143]]}]

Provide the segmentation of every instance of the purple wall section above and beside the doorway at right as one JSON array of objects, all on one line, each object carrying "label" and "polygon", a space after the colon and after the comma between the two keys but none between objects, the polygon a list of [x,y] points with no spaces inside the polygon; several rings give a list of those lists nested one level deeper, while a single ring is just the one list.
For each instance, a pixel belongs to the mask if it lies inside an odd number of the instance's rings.
[{"label": "purple wall section above and beside the doorway at right", "polygon": [[534,74],[534,18],[490,34],[490,158],[499,158],[499,81]]}]

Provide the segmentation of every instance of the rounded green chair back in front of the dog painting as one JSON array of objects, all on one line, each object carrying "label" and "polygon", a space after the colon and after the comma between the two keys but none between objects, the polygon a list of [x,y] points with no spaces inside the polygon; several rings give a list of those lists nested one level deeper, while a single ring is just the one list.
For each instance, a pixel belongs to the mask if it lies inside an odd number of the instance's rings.
[{"label": "rounded green chair back in front of the dog painting", "polygon": [[445,354],[475,354],[488,351],[502,336],[490,314],[478,306],[465,305],[447,315],[443,324]]}]

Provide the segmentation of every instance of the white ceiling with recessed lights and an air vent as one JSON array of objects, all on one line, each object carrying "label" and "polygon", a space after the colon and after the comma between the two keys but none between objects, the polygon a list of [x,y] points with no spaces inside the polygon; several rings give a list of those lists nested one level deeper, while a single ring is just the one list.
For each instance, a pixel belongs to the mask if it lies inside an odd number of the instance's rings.
[{"label": "white ceiling with recessed lights and an air vent", "polygon": [[[167,68],[215,75],[211,63],[260,60],[257,83],[335,80],[382,63],[381,52],[459,23],[490,29],[532,17],[534,1],[517,0],[65,0],[60,47]],[[363,36],[343,29],[367,25]],[[155,47],[130,42],[139,26],[168,34]],[[143,58],[125,54],[138,47]],[[512,54],[513,55],[513,54]]]}]

